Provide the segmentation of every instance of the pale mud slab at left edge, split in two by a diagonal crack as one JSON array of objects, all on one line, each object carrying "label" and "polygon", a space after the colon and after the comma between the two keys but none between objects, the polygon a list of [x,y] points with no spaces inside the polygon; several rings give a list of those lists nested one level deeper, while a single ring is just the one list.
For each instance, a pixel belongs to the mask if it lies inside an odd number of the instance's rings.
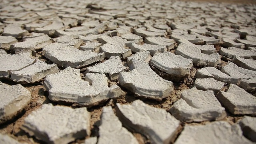
[{"label": "pale mud slab at left edge, split in two by a diagonal crack", "polygon": [[19,83],[39,82],[48,74],[58,72],[56,64],[46,64],[41,60],[31,58],[29,52],[20,54],[6,54],[2,52],[0,60],[2,60],[2,70],[0,74],[4,78]]}]

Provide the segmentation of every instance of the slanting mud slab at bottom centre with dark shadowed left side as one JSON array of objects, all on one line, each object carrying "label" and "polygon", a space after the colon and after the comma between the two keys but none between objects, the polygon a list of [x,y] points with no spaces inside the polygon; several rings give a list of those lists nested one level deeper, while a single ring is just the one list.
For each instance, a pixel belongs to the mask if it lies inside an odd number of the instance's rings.
[{"label": "slanting mud slab at bottom centre with dark shadowed left side", "polygon": [[148,136],[154,144],[172,142],[180,128],[180,121],[170,113],[140,100],[132,104],[116,104],[116,114],[124,126]]}]

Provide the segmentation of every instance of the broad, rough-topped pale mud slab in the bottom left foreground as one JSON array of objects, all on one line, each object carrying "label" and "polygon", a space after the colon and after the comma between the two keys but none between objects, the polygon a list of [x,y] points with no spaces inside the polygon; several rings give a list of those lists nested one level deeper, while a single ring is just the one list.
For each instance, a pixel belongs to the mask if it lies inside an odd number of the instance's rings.
[{"label": "broad, rough-topped pale mud slab in the bottom left foreground", "polygon": [[43,104],[25,118],[22,129],[44,142],[63,144],[90,135],[89,119],[86,108]]}]

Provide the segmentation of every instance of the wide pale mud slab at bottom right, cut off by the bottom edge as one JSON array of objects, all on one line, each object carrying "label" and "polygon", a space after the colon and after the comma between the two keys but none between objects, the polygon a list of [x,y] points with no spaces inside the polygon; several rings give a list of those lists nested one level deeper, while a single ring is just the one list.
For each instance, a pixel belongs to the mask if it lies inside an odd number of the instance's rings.
[{"label": "wide pale mud slab at bottom right, cut off by the bottom edge", "polygon": [[206,125],[185,126],[175,144],[253,144],[242,135],[237,124],[218,121]]}]

